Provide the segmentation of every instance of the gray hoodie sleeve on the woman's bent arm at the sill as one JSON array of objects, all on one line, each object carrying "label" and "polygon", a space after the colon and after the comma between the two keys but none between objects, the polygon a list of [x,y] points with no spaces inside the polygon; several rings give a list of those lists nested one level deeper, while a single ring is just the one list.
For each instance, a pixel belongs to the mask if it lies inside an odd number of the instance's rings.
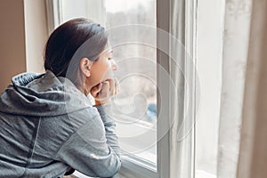
[{"label": "gray hoodie sleeve on the woman's bent arm at the sill", "polygon": [[70,136],[56,159],[89,176],[112,177],[121,166],[116,125],[105,111],[109,106],[96,108],[96,117]]}]

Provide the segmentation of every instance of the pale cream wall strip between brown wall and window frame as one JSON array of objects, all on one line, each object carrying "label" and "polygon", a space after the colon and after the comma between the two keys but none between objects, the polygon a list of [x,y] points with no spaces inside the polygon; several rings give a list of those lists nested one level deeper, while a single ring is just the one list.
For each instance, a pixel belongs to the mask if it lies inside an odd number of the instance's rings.
[{"label": "pale cream wall strip between brown wall and window frame", "polygon": [[44,46],[48,39],[45,0],[24,0],[26,66],[29,72],[44,72]]}]

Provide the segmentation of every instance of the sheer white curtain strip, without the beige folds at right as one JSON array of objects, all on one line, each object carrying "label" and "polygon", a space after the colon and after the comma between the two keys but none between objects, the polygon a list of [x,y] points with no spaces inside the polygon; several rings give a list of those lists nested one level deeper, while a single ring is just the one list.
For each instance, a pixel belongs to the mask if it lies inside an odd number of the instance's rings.
[{"label": "sheer white curtain strip, without the beige folds at right", "polygon": [[226,0],[217,177],[234,178],[247,66],[252,0]]}]

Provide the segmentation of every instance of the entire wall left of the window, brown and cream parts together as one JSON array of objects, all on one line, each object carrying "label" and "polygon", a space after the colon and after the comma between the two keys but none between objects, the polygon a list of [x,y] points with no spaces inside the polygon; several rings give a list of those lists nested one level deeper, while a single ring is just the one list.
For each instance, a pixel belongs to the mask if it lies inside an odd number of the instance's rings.
[{"label": "entire wall left of the window, brown and cream parts together", "polygon": [[21,72],[44,72],[45,0],[1,0],[0,92]]}]

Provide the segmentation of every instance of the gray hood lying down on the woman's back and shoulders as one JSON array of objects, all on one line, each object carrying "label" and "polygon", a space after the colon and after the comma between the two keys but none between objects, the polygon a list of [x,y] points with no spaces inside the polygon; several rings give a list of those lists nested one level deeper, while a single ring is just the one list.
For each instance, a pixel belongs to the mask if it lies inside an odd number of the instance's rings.
[{"label": "gray hood lying down on the woman's back and shoulders", "polygon": [[0,111],[14,115],[52,117],[92,107],[89,99],[65,77],[22,73],[1,94]]}]

